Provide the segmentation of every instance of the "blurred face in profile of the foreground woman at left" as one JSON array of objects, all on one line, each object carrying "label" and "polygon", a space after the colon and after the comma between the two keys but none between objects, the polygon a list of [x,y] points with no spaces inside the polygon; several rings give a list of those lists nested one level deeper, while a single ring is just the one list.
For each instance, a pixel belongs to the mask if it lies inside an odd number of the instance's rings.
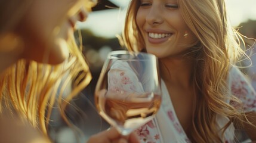
[{"label": "blurred face in profile of the foreground woman at left", "polygon": [[[85,4],[84,4],[85,3]],[[85,20],[85,0],[33,0],[16,33],[23,38],[21,58],[59,64],[69,55],[67,40],[78,20]]]}]

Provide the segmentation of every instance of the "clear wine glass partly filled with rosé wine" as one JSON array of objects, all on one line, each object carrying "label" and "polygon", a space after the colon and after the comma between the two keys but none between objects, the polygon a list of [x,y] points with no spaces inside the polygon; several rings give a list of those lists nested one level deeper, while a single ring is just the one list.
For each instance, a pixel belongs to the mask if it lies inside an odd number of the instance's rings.
[{"label": "clear wine glass partly filled with ros\u00e9 wine", "polygon": [[161,105],[158,59],[144,52],[109,53],[95,88],[100,115],[122,135],[155,117]]}]

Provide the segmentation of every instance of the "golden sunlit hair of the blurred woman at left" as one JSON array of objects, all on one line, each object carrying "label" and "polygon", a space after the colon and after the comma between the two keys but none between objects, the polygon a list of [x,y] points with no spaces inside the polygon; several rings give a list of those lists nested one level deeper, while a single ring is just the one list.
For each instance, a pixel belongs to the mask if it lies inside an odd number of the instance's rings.
[{"label": "golden sunlit hair of the blurred woman at left", "polygon": [[[22,6],[21,12],[25,13],[32,1],[23,1],[21,5],[14,1],[8,1],[9,3],[5,2],[5,5],[14,9]],[[87,4],[86,2],[85,4]],[[92,6],[96,1],[91,2],[90,5]],[[1,11],[7,13],[9,9],[13,10],[10,7],[1,9]],[[3,21],[1,33],[11,32],[24,13],[13,11],[11,14],[15,15],[14,17],[17,19],[1,17],[0,21]],[[22,59],[1,73],[1,113],[13,113],[21,119],[28,119],[35,128],[41,129],[47,135],[51,110],[55,102],[58,102],[63,119],[70,125],[64,114],[64,108],[91,80],[91,73],[82,54],[82,45],[78,47],[73,36],[71,37],[67,41],[69,58],[63,63],[53,66]],[[65,89],[69,88],[70,83],[72,83],[72,91],[68,96],[63,96],[67,94]]]}]

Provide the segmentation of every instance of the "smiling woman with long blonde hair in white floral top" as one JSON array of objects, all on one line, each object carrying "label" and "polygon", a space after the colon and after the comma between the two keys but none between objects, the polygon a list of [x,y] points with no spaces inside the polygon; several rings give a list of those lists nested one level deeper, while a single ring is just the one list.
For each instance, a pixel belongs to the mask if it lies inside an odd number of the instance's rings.
[{"label": "smiling woman with long blonde hair in white floral top", "polygon": [[235,128],[256,141],[256,94],[224,0],[132,0],[124,41],[159,58],[162,105],[135,131],[142,142],[236,142]]}]

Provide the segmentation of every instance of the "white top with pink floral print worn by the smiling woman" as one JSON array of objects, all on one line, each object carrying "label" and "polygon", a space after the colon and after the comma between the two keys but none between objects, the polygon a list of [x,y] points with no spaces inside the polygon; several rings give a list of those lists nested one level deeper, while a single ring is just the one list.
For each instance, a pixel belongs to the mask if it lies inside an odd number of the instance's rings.
[{"label": "white top with pink floral print worn by the smiling woman", "polygon": [[[245,112],[256,111],[256,94],[252,86],[236,67],[230,69],[230,92],[242,102]],[[229,102],[229,101],[227,101]],[[218,117],[219,126],[229,121],[226,117]],[[172,106],[168,90],[162,80],[162,105],[155,119],[135,130],[142,143],[190,142],[184,132]],[[235,137],[233,125],[224,134],[226,142],[233,142]]]}]

